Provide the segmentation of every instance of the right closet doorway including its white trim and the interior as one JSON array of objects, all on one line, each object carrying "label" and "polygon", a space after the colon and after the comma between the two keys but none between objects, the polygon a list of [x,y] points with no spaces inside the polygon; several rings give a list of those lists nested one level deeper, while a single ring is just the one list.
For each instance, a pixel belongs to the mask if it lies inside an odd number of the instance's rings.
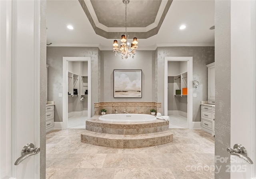
[{"label": "right closet doorway including its white trim and the interior", "polygon": [[[192,67],[193,57],[165,57],[164,115],[170,116],[169,128],[194,128],[192,124]],[[173,106],[170,106],[171,103]]]}]

